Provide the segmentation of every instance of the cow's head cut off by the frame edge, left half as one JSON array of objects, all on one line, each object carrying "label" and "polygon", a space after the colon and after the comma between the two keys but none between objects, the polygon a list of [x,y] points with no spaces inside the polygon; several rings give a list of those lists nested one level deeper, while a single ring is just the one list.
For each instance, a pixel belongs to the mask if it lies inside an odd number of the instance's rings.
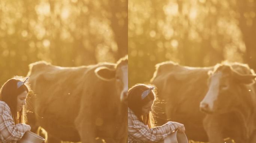
[{"label": "cow's head cut off by the frame edge, left half", "polygon": [[122,102],[126,101],[128,92],[128,56],[121,58],[114,69],[98,67],[94,72],[102,80],[115,80],[115,87],[118,94],[120,94],[120,100]]}]

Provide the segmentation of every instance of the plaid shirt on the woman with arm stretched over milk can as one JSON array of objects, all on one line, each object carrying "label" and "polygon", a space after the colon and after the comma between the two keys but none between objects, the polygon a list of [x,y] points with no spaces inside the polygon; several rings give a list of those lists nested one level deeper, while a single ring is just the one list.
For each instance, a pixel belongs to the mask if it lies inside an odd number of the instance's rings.
[{"label": "plaid shirt on the woman with arm stretched over milk can", "polygon": [[149,128],[138,120],[137,116],[128,108],[128,143],[152,143],[165,139],[175,130],[169,122],[159,127]]}]

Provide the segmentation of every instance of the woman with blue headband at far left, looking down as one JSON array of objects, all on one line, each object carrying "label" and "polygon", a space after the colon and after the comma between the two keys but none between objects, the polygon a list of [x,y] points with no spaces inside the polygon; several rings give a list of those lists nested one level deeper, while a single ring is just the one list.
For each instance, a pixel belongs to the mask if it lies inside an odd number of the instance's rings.
[{"label": "woman with blue headband at far left, looking down", "polygon": [[24,124],[23,106],[29,92],[28,77],[7,80],[0,89],[0,143],[16,143],[30,125]]}]

